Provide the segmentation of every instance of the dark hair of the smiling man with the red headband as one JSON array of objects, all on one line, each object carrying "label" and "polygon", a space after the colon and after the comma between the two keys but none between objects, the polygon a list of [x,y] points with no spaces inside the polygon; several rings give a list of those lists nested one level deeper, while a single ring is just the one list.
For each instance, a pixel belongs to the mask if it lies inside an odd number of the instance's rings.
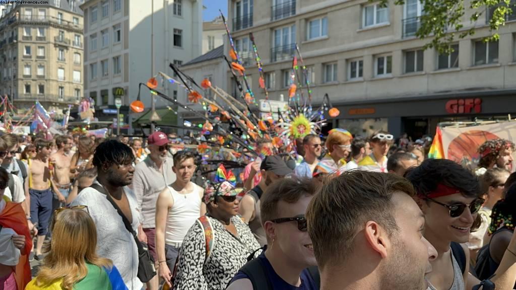
[{"label": "dark hair of the smiling man with the red headband", "polygon": [[459,189],[465,197],[479,197],[480,185],[477,177],[448,159],[427,159],[407,174],[417,195],[426,197],[444,184]]}]

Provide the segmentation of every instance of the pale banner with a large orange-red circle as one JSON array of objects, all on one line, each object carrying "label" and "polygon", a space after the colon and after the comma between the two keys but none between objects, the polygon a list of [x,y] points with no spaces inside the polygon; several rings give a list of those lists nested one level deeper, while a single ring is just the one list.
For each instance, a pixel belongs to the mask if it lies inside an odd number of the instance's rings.
[{"label": "pale banner with a large orange-red circle", "polygon": [[[442,148],[446,159],[474,170],[480,155],[478,148],[492,139],[507,139],[516,143],[516,121],[492,123],[467,127],[447,126],[441,128]],[[513,157],[514,157],[513,153]],[[516,159],[516,158],[515,158]]]}]

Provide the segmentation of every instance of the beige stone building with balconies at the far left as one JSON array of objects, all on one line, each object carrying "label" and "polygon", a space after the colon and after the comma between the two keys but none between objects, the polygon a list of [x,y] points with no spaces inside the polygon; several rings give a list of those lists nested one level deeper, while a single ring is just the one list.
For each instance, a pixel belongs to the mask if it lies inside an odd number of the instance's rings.
[{"label": "beige stone building with balconies at the far left", "polygon": [[19,112],[36,100],[57,118],[83,96],[83,16],[79,1],[2,6],[0,94]]}]

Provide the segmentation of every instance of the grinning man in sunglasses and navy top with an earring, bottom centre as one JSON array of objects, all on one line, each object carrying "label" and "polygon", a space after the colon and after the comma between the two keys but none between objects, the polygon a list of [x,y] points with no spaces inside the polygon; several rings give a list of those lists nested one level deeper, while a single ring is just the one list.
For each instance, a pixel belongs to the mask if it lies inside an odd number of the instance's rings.
[{"label": "grinning man in sunglasses and navy top with an earring, bottom centre", "polygon": [[268,246],[240,268],[228,290],[319,289],[314,281],[317,269],[306,270],[316,265],[305,217],[316,189],[306,179],[287,179],[267,188],[261,218]]}]

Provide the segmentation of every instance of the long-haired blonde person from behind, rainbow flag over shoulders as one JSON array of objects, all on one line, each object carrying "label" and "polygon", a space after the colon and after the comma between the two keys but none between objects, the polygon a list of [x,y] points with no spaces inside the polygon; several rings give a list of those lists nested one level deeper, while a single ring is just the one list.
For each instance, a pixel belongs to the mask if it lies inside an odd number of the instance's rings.
[{"label": "long-haired blonde person from behind, rainbow flag over shoulders", "polygon": [[95,253],[95,224],[84,205],[54,212],[52,242],[38,276],[26,290],[127,289],[111,260]]}]

